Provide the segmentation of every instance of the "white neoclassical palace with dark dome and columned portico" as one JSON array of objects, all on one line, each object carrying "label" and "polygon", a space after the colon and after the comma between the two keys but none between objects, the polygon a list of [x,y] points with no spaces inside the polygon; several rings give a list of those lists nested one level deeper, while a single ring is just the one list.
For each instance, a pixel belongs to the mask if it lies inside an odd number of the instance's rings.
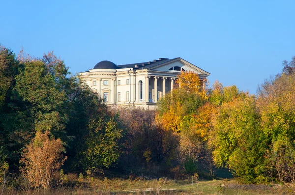
[{"label": "white neoclassical palace with dark dome and columned portico", "polygon": [[101,61],[93,69],[79,73],[104,102],[114,106],[155,108],[159,98],[171,91],[181,71],[194,71],[201,79],[210,73],[176,57],[153,61],[116,65]]}]

